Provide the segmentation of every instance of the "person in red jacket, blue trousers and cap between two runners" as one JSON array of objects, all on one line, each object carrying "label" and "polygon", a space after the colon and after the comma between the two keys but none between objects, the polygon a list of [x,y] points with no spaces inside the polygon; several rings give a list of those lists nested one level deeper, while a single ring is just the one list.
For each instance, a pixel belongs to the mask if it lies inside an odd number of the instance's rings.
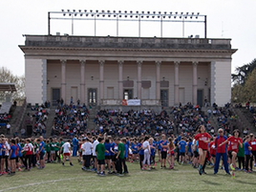
[{"label": "person in red jacket, blue trousers and cap between two runners", "polygon": [[223,129],[219,129],[218,133],[219,133],[219,136],[214,140],[215,148],[216,148],[216,160],[215,160],[215,164],[214,164],[214,174],[218,173],[219,166],[220,166],[220,160],[221,160],[221,157],[223,157],[224,170],[228,175],[230,175],[229,170],[228,170],[228,164],[227,164],[226,144],[222,144],[222,143],[224,143],[225,140],[227,140],[227,138],[224,136]]}]

